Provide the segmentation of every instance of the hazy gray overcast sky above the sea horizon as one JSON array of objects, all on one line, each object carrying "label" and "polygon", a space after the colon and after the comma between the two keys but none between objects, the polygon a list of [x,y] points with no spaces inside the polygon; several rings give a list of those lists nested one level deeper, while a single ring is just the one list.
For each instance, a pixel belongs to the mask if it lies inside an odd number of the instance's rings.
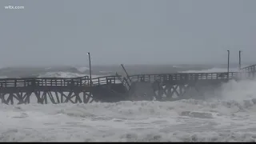
[{"label": "hazy gray overcast sky above the sea horizon", "polygon": [[[25,6],[6,10],[5,6]],[[256,63],[255,0],[1,0],[0,66]]]}]

